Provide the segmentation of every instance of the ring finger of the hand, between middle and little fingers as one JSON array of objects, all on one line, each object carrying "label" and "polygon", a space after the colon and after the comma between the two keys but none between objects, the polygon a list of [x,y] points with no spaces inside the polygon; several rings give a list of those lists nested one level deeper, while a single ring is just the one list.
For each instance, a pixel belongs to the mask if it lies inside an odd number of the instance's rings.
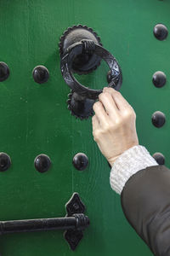
[{"label": "ring finger of the hand, between middle and little fingers", "polygon": [[99,124],[104,125],[107,120],[107,113],[102,102],[95,102],[93,106],[96,118],[99,121]]}]

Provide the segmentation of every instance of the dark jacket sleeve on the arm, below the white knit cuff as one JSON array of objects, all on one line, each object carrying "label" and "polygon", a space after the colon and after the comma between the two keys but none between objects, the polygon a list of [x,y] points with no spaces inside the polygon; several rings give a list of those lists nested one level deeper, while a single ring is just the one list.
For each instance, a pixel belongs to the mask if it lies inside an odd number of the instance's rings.
[{"label": "dark jacket sleeve on the arm, below the white knit cuff", "polygon": [[127,180],[121,194],[127,221],[156,256],[170,256],[170,170],[150,166]]}]

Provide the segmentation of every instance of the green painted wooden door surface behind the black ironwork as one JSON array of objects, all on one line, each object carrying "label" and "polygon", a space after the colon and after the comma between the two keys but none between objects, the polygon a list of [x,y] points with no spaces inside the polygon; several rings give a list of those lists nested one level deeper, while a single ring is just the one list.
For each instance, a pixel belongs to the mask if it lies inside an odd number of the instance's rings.
[{"label": "green painted wooden door surface behind the black ironwork", "polygon": [[[0,237],[3,256],[152,255],[127,223],[120,196],[110,187],[110,167],[94,142],[91,118],[81,121],[67,110],[70,89],[61,77],[58,42],[68,26],[82,24],[98,32],[122,67],[121,92],[137,114],[139,143],[150,154],[164,154],[170,167],[170,38],[160,42],[152,32],[157,23],[170,28],[169,9],[168,0],[1,0],[0,61],[8,64],[10,77],[0,83],[0,152],[11,156],[12,166],[0,173],[0,219],[65,216],[65,203],[78,192],[91,220],[75,252],[63,231],[48,231]],[[48,67],[48,83],[33,81],[37,65]],[[151,82],[158,70],[167,74],[161,89]],[[103,88],[107,71],[102,63],[79,80]],[[167,116],[161,129],[151,124],[157,110]],[[84,172],[71,164],[78,152],[89,158]],[[41,153],[52,160],[46,173],[33,165]]]}]

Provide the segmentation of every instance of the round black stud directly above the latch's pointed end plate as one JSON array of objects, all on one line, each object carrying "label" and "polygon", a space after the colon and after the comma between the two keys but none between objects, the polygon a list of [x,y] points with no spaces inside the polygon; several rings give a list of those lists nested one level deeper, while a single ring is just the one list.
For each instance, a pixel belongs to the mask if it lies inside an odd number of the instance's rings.
[{"label": "round black stud directly above the latch's pointed end plate", "polygon": [[83,153],[77,153],[73,157],[72,164],[78,171],[83,171],[88,166],[88,156]]}]

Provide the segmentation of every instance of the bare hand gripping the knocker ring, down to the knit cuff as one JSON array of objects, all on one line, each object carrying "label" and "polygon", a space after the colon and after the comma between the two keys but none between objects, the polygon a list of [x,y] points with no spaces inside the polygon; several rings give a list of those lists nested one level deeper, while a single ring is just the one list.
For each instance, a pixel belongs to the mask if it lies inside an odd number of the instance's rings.
[{"label": "bare hand gripping the knocker ring, down to the knit cuff", "polygon": [[112,167],[125,150],[139,145],[136,113],[122,94],[111,87],[105,87],[99,94],[93,109],[94,141]]}]

